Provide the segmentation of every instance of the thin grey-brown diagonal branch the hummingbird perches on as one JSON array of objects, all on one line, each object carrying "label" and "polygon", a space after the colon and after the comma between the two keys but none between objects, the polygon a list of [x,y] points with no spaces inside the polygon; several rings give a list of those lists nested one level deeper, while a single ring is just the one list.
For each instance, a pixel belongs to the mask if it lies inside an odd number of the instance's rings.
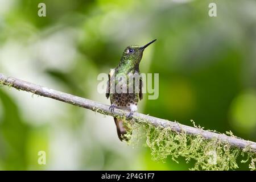
[{"label": "thin grey-brown diagonal branch the hummingbird perches on", "polygon": [[[88,100],[86,98],[73,96],[68,93],[60,92],[57,90],[49,89],[44,86],[32,84],[27,81],[22,81],[17,78],[7,77],[0,73],[0,83],[3,85],[7,85],[18,90],[24,90],[26,92],[31,92],[33,94],[37,94],[39,96],[44,96],[48,98],[53,98],[58,101],[66,102],[68,104],[72,104],[79,107],[84,107],[86,109],[90,109],[96,111],[101,114],[112,115],[113,117],[124,117],[129,114],[126,110],[115,109],[113,112],[109,110],[109,105],[101,104],[99,102],[95,102],[92,100]],[[166,119],[160,119],[151,117],[149,115],[144,115],[141,113],[134,113],[133,119],[135,121],[144,121],[150,123],[154,126],[160,127],[171,127],[173,131],[177,133],[186,133],[189,135],[201,135],[201,137],[210,140],[213,138],[217,138],[221,140],[221,142],[228,142],[230,146],[238,147],[238,148],[246,148],[250,147],[251,151],[256,153],[256,143],[248,140],[243,140],[236,137],[229,137],[225,134],[218,134],[212,131],[207,131],[203,129],[199,129],[197,127],[191,127],[186,125],[181,125],[177,122],[168,121]]]}]

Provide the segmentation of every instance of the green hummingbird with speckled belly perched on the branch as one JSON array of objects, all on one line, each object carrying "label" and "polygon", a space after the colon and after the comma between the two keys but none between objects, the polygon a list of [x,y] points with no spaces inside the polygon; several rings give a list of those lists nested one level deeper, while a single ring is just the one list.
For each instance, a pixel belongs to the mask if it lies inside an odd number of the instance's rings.
[{"label": "green hummingbird with speckled belly perched on the branch", "polygon": [[[142,78],[139,77],[139,83],[133,84],[133,92],[127,93],[121,90],[121,92],[117,92],[115,90],[115,85],[125,80],[125,83],[130,74],[138,74],[139,75],[139,63],[141,63],[143,51],[146,47],[156,41],[152,40],[151,42],[147,43],[145,46],[128,46],[123,51],[121,60],[119,64],[114,69],[110,69],[110,73],[108,75],[108,83],[107,83],[107,90],[106,90],[106,98],[110,97],[111,106],[109,107],[110,111],[113,111],[114,108],[119,109],[126,109],[129,110],[130,113],[127,118],[131,118],[133,113],[137,111],[137,104],[139,100],[142,100],[143,93],[142,93]],[[125,78],[125,79],[124,79]],[[127,83],[128,86],[129,83]],[[122,86],[121,86],[122,89]],[[112,92],[114,90],[114,92]],[[124,89],[125,90],[125,89]],[[135,92],[138,90],[138,92]],[[127,91],[127,89],[125,90]],[[127,128],[123,125],[122,119],[118,119],[114,117],[115,126],[117,127],[117,135],[118,138],[122,140],[129,140],[125,137],[127,134]]]}]

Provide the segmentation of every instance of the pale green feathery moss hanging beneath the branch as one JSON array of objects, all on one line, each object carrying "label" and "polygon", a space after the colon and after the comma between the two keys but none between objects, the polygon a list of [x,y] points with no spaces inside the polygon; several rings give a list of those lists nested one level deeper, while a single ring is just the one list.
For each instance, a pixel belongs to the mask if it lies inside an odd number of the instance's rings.
[{"label": "pale green feathery moss hanging beneath the branch", "polygon": [[[194,163],[191,170],[233,170],[238,168],[237,158],[242,155],[246,158],[242,162],[249,163],[249,169],[255,170],[256,155],[250,147],[240,150],[217,138],[206,140],[200,135],[177,133],[171,128],[155,127],[145,121],[126,121],[125,126],[130,131],[126,135],[131,138],[129,144],[136,145],[138,140],[145,136],[146,146],[150,148],[153,160],[165,161],[167,156],[170,156],[178,163],[177,158],[181,156],[187,163]],[[235,137],[231,131],[228,134]]]}]

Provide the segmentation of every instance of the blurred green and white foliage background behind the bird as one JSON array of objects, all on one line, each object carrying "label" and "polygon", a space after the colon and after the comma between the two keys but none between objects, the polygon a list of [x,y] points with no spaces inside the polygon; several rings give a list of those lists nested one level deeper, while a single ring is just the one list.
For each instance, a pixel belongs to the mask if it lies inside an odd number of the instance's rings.
[{"label": "blurred green and white foliage background behind the bird", "polygon": [[[38,4],[46,3],[46,17]],[[215,2],[217,17],[209,17]],[[0,0],[0,72],[109,104],[97,92],[131,44],[158,39],[141,72],[158,100],[139,111],[256,140],[256,1]],[[147,97],[144,97],[147,98]],[[46,165],[38,151],[46,151]],[[112,117],[0,87],[0,169],[187,170],[118,140]],[[248,169],[247,164],[239,169]]]}]

